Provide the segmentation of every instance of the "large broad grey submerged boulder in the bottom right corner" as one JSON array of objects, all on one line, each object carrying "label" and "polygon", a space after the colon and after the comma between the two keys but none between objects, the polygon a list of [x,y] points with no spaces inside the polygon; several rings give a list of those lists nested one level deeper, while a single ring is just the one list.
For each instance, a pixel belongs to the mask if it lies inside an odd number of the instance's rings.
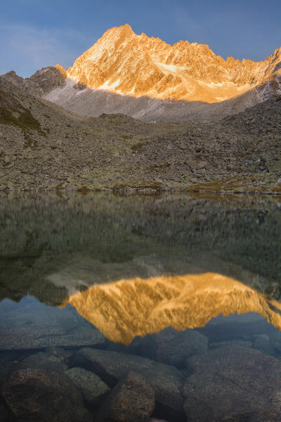
[{"label": "large broad grey submerged boulder in the bottom right corner", "polygon": [[189,422],[280,421],[278,359],[249,348],[220,347],[187,364],[192,375],[182,391]]}]

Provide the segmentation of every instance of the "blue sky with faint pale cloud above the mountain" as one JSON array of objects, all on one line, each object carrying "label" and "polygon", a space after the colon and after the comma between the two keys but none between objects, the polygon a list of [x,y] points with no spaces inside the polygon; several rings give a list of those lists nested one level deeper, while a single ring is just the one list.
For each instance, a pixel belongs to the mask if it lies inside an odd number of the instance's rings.
[{"label": "blue sky with faint pale cloud above the mountain", "polygon": [[223,58],[264,60],[281,46],[280,0],[1,0],[0,74],[72,65],[113,26],[208,44]]}]

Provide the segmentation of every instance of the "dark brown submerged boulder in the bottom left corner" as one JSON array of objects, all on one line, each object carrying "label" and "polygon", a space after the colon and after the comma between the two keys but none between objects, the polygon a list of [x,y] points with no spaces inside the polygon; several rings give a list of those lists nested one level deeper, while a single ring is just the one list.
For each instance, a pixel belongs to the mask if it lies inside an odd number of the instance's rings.
[{"label": "dark brown submerged boulder in the bottom left corner", "polygon": [[20,421],[91,422],[72,381],[55,371],[19,369],[2,387],[2,395]]}]

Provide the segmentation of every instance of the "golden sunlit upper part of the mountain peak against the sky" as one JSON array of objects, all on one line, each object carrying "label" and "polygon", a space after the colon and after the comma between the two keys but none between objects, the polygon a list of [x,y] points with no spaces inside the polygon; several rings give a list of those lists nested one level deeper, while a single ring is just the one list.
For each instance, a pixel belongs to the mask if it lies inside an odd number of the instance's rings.
[{"label": "golden sunlit upper part of the mountain peak against the sky", "polygon": [[137,35],[129,25],[107,30],[67,76],[92,89],[126,96],[216,103],[273,82],[281,73],[281,48],[264,61],[227,60],[209,46]]}]

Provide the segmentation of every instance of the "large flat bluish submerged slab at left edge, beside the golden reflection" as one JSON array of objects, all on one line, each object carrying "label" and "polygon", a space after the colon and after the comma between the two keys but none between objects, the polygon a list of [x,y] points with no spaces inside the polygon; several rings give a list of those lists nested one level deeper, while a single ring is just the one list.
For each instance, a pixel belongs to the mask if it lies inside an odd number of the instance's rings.
[{"label": "large flat bluish submerged slab at left edge, beside the golden reflection", "polygon": [[6,312],[0,321],[0,332],[0,350],[105,343],[105,336],[72,309],[58,309],[40,303]]}]

